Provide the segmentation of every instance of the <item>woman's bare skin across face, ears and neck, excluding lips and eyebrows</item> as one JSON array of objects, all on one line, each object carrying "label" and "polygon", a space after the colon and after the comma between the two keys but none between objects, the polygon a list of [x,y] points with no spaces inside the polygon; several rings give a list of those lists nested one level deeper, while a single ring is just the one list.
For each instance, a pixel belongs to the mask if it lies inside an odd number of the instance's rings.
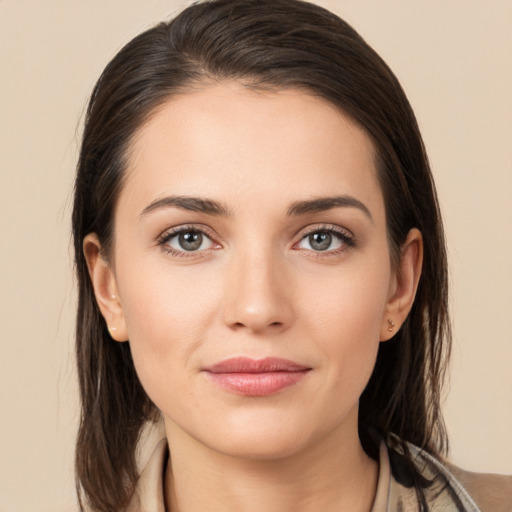
[{"label": "woman's bare skin across face, ears and neck, excluding lips and eyebrows", "polygon": [[[326,101],[229,82],[174,96],[138,131],[110,261],[94,234],[84,251],[112,336],[130,340],[164,417],[169,510],[371,509],[378,464],[359,442],[359,397],[422,261],[412,230],[391,266],[374,160],[366,133]],[[169,196],[229,214],[155,206]],[[354,204],[289,214],[332,196]],[[204,232],[199,250],[180,249],[169,235],[180,228]],[[327,249],[312,232],[330,233]],[[236,356],[311,371],[270,396],[240,396],[202,371]]]}]

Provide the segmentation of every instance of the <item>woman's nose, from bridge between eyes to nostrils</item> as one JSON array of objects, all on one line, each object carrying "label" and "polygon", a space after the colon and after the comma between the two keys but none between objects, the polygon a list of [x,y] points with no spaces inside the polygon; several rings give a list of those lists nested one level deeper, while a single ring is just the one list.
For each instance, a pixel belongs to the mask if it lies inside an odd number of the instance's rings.
[{"label": "woman's nose, from bridge between eyes to nostrils", "polygon": [[246,251],[233,258],[223,307],[235,330],[277,333],[293,319],[293,284],[286,264],[272,251]]}]

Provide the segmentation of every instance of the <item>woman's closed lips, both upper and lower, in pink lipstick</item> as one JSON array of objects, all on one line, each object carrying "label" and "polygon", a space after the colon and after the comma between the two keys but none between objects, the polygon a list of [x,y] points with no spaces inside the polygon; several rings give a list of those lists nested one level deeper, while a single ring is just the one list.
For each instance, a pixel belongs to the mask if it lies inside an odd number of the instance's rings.
[{"label": "woman's closed lips, both upper and lower, in pink lipstick", "polygon": [[310,370],[301,364],[276,357],[258,360],[234,357],[203,371],[217,385],[235,394],[267,396],[298,383]]}]

